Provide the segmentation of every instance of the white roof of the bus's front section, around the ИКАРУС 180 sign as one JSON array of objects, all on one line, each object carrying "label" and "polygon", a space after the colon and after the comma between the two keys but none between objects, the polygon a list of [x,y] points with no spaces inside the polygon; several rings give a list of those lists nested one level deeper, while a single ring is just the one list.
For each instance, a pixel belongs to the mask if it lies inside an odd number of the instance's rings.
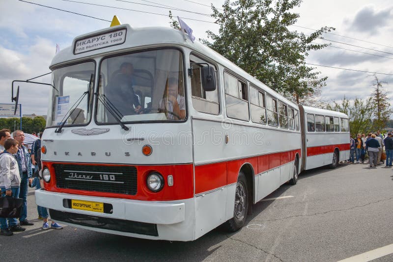
[{"label": "white roof of the bus's front section, around the \u0418\u041a\u0410\u0420\u0423\u0421 180 sign", "polygon": [[[123,44],[96,49],[89,52],[81,52],[78,54],[74,53],[74,47],[76,41],[91,36],[97,36],[106,33],[108,31],[121,29],[121,28],[127,29],[126,40]],[[83,61],[96,55],[107,55],[107,54],[113,54],[114,52],[125,52],[132,48],[138,48],[138,47],[154,48],[154,47],[166,46],[166,45],[167,46],[180,45],[195,50],[196,52],[199,52],[204,56],[213,59],[217,63],[220,63],[228,70],[250,81],[257,87],[262,88],[264,91],[274,95],[277,99],[281,100],[282,102],[285,102],[288,105],[297,108],[297,105],[295,103],[284,98],[279,93],[277,93],[276,91],[274,91],[273,89],[271,89],[266,84],[259,81],[258,79],[254,78],[253,76],[242,70],[240,67],[236,66],[234,63],[226,59],[218,52],[210,49],[209,47],[203,45],[197,40],[193,43],[188,37],[186,37],[186,34],[181,33],[180,30],[176,30],[170,27],[131,27],[130,25],[124,24],[120,26],[113,26],[109,28],[100,29],[97,31],[93,31],[77,36],[76,38],[74,38],[72,42],[72,46],[59,51],[55,55],[50,65],[50,69],[53,69],[54,67],[57,66],[68,64],[70,62]]]}]

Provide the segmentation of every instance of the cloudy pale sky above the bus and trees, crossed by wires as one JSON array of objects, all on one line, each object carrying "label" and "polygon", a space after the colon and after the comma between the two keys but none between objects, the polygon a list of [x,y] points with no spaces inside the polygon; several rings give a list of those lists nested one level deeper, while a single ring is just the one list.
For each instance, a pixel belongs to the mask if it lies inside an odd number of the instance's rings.
[{"label": "cloudy pale sky above the bus and trees, crossed by wires", "polygon": [[[88,5],[69,0],[27,1],[30,3],[20,0],[0,0],[0,104],[11,104],[11,83],[13,80],[31,79],[50,72],[49,65],[56,53],[56,44],[60,46],[60,49],[63,49],[70,46],[72,40],[78,35],[110,26],[110,22],[70,12],[108,21],[112,21],[113,15],[116,15],[122,24],[130,24],[133,27],[169,26],[169,9],[149,5],[158,5],[156,3],[159,3],[162,7],[166,5],[167,7],[176,7],[196,13],[210,14],[211,8],[206,5],[212,3],[220,8],[224,2],[224,0],[79,1],[163,14],[157,15]],[[324,34],[325,40],[318,39],[315,41],[331,43],[332,47],[311,51],[307,63],[392,74],[380,74],[377,77],[387,82],[383,86],[388,92],[388,96],[393,99],[393,92],[391,92],[393,90],[392,1],[304,0],[300,7],[296,7],[293,11],[299,13],[300,18],[295,26],[290,27],[292,30],[309,34],[312,30],[302,27],[318,29],[322,26],[332,26],[336,28],[332,32],[335,35]],[[207,39],[206,30],[218,32],[219,26],[216,24],[187,19],[214,22],[211,17],[173,9],[172,13],[174,16],[184,18],[185,22],[193,28],[194,35],[197,38]],[[339,101],[344,96],[351,100],[355,97],[365,99],[372,92],[374,82],[372,73],[322,66],[312,67],[315,67],[315,71],[321,72],[321,77],[328,77],[326,86],[322,89],[320,101]],[[51,77],[48,75],[32,81],[49,83]],[[50,87],[27,83],[19,83],[19,85],[19,102],[22,104],[22,114],[46,115],[48,88]]]}]

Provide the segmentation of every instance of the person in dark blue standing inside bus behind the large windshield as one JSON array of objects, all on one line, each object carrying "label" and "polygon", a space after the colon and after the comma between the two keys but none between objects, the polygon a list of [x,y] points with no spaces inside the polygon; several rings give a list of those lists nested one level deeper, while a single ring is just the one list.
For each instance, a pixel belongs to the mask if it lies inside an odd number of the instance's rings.
[{"label": "person in dark blue standing inside bus behind the large windshield", "polygon": [[109,104],[115,105],[122,116],[140,113],[138,96],[134,92],[134,66],[124,62],[118,72],[114,74],[107,86],[106,98]]}]

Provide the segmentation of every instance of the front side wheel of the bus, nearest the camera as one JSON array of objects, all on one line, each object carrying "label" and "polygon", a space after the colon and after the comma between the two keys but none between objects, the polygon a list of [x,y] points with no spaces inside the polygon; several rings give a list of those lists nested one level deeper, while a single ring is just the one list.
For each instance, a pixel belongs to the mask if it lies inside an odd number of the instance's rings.
[{"label": "front side wheel of the bus, nearest the camera", "polygon": [[240,171],[236,183],[233,217],[225,222],[225,227],[229,232],[238,231],[246,224],[248,208],[249,191],[247,188],[247,179],[244,173]]}]

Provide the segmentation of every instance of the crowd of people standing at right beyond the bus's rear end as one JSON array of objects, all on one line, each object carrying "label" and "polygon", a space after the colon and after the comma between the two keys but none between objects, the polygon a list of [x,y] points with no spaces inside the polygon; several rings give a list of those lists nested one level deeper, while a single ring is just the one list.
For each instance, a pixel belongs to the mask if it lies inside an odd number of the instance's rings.
[{"label": "crowd of people standing at right beyond the bus's rear end", "polygon": [[[385,155],[383,157],[385,148]],[[393,135],[388,133],[386,137],[378,130],[375,133],[358,134],[354,139],[350,137],[350,154],[349,163],[365,163],[365,155],[368,155],[368,164],[370,168],[376,168],[377,165],[385,164],[387,167],[392,166],[393,158]],[[355,160],[356,157],[356,160]]]}]

